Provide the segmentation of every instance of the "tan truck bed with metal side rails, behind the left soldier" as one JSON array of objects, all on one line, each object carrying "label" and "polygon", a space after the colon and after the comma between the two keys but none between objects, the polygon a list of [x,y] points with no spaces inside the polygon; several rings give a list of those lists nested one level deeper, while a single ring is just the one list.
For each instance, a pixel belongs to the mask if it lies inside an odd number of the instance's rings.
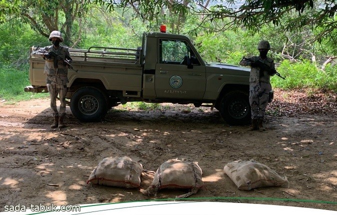
[{"label": "tan truck bed with metal side rails, behind the left soldier", "polygon": [[[35,48],[30,48],[30,53]],[[140,91],[142,65],[140,50],[136,48],[115,48],[92,46],[88,49],[69,48],[73,59],[68,69],[70,86],[76,79],[99,79],[106,89]],[[29,80],[33,87],[43,87],[45,83],[44,59],[31,57]],[[127,79],[127,81],[125,81]]]}]

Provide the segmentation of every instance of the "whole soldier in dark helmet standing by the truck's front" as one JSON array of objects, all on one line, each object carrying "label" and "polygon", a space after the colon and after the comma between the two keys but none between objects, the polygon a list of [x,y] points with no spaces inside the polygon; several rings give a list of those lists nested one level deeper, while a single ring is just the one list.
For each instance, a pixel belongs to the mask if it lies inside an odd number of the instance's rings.
[{"label": "whole soldier in dark helmet standing by the truck's front", "polygon": [[249,77],[249,102],[252,109],[251,130],[264,131],[266,128],[263,127],[263,119],[268,105],[269,94],[272,90],[270,75],[274,75],[276,70],[274,60],[267,57],[270,43],[267,40],[260,41],[258,50],[260,51],[259,56],[244,57],[240,61],[240,65],[251,66]]}]

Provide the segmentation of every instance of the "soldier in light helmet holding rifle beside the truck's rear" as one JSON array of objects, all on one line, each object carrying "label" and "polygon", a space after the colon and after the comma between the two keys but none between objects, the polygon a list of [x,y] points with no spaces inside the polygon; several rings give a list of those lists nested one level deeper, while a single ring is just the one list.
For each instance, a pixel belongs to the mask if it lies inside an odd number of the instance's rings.
[{"label": "soldier in light helmet holding rifle beside the truck's rear", "polygon": [[[52,31],[49,35],[49,41],[52,42],[52,45],[38,48],[31,55],[45,59],[44,74],[46,74],[47,89],[50,93],[50,108],[54,117],[54,122],[50,127],[63,128],[65,127],[63,121],[65,115],[65,95],[67,83],[69,82],[66,62],[71,63],[72,59],[68,47],[60,45],[60,42],[63,42],[60,31]],[[57,111],[56,107],[57,94],[60,100],[59,111]]]}]

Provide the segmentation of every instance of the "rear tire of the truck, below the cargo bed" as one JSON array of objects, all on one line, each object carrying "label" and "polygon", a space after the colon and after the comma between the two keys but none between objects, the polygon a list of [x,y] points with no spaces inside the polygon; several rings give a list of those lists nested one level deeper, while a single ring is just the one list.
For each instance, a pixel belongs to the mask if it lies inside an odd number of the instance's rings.
[{"label": "rear tire of the truck, below the cargo bed", "polygon": [[70,100],[72,114],[80,121],[100,121],[108,111],[104,93],[96,87],[79,88]]}]

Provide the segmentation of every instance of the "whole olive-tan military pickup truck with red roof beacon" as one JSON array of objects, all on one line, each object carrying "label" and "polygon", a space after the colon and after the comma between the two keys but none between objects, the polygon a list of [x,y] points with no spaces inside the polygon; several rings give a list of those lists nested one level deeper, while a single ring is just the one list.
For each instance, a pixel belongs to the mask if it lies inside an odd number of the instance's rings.
[{"label": "whole olive-tan military pickup truck with red roof beacon", "polygon": [[[30,53],[35,48],[30,48]],[[232,125],[251,120],[249,69],[205,62],[187,36],[144,32],[142,46],[69,48],[67,105],[81,121],[99,121],[130,101],[215,107]],[[47,92],[44,60],[29,58],[30,92]],[[75,71],[76,70],[76,71]]]}]

